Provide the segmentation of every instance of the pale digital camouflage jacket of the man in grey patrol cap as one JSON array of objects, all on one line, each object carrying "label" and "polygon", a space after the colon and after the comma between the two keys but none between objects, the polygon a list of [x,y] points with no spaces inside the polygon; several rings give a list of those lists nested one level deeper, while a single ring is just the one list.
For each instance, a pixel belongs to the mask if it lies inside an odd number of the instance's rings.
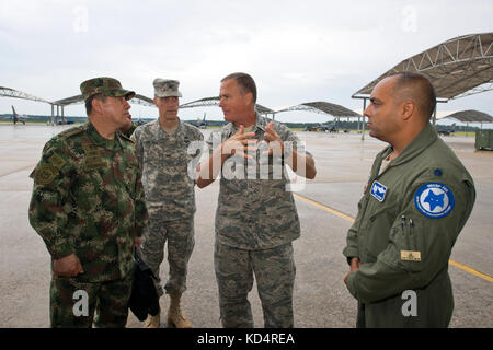
[{"label": "pale digital camouflage jacket of the man in grey patrol cap", "polygon": [[139,126],[133,139],[137,144],[148,208],[159,208],[167,220],[193,217],[194,175],[204,140],[200,130],[180,121],[173,135],[169,135],[158,119]]}]

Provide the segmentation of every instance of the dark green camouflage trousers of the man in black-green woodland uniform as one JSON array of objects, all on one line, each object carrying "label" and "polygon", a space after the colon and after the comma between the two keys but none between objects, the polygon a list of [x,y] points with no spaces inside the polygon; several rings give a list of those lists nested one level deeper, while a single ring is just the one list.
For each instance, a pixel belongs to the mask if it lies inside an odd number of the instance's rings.
[{"label": "dark green camouflage trousers of the man in black-green woodland uniform", "polygon": [[131,282],[131,271],[123,279],[95,283],[80,283],[77,278],[51,273],[51,328],[90,328],[93,320],[98,328],[125,327]]}]

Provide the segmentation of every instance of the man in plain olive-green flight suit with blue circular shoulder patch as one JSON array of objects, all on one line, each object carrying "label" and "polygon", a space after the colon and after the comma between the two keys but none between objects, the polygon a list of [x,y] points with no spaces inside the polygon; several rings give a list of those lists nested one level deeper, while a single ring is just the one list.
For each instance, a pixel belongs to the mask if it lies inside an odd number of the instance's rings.
[{"label": "man in plain olive-green flight suit with blue circular shoulder patch", "polygon": [[436,97],[417,73],[380,81],[365,110],[376,158],[343,254],[358,301],[357,327],[447,327],[452,246],[475,199],[471,175],[438,138]]}]

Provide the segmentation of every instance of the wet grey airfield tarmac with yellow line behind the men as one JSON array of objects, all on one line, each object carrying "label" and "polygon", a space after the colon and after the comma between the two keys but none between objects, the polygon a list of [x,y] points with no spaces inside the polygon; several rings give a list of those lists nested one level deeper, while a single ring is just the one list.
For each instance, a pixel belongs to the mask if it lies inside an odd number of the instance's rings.
[{"label": "wet grey airfield tarmac with yellow line behind the men", "polygon": [[[67,126],[0,125],[0,327],[49,327],[49,255],[31,228],[31,171],[44,143]],[[210,129],[202,130],[206,138]],[[346,290],[342,255],[375,155],[386,145],[356,133],[298,131],[316,160],[317,177],[295,194],[301,237],[294,242],[297,276],[295,326],[354,327],[356,300]],[[455,311],[450,327],[493,327],[493,152],[474,150],[474,137],[446,137],[471,173],[477,189],[472,214],[451,255]],[[194,327],[221,327],[214,273],[214,218],[218,182],[196,189],[195,249],[182,310]],[[165,257],[168,254],[165,254]],[[168,261],[161,266],[165,281]],[[250,293],[255,327],[263,327],[256,287]],[[169,301],[161,298],[161,326]],[[141,327],[131,314],[127,327]]]}]

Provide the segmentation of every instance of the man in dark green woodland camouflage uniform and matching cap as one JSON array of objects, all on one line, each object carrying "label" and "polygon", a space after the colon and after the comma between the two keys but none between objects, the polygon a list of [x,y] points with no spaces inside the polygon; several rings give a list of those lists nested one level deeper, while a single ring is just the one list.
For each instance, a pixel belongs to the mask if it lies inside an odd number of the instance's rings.
[{"label": "man in dark green woodland camouflage uniform and matching cap", "polygon": [[124,327],[134,248],[148,214],[128,122],[135,93],[112,78],[80,85],[88,122],[51,138],[32,173],[31,225],[51,255],[51,327]]}]

